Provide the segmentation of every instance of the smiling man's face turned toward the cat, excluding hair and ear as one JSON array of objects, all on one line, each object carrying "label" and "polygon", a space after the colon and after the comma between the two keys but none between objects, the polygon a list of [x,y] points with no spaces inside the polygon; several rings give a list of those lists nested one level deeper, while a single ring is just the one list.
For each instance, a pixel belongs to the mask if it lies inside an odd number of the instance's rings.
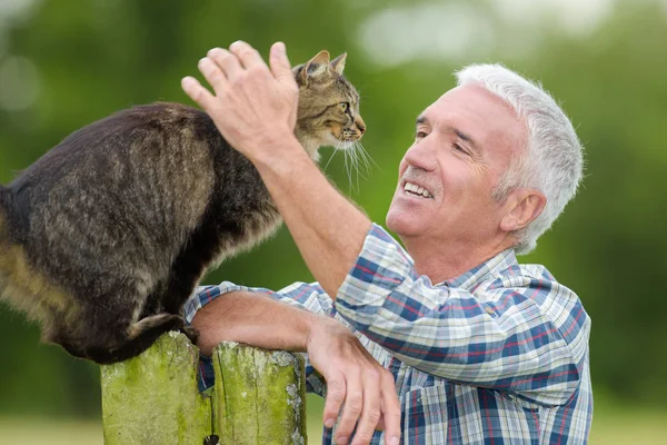
[{"label": "smiling man's face turned toward the cat, excluding hair and ear", "polygon": [[472,85],[449,90],[417,120],[387,226],[406,243],[491,243],[504,212],[492,190],[526,140],[526,125],[500,98]]}]

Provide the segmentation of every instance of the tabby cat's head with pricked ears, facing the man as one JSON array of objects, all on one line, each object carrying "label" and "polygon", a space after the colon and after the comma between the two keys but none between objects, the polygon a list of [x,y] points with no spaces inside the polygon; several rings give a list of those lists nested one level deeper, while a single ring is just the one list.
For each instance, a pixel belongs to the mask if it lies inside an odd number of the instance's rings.
[{"label": "tabby cat's head with pricked ears, facing the man", "polygon": [[349,148],[366,131],[359,113],[359,93],[342,76],[347,53],[330,60],[320,51],[292,68],[299,85],[299,111],[295,134],[317,159],[321,146]]}]

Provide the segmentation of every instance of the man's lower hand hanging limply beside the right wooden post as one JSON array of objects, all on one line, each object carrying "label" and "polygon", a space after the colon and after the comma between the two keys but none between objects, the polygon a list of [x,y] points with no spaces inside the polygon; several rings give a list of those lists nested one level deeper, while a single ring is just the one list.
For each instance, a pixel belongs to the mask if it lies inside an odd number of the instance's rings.
[{"label": "man's lower hand hanging limply beside the right wooden post", "polygon": [[306,349],[312,366],[327,380],[323,422],[332,427],[342,407],[336,443],[370,443],[375,429],[385,427],[387,445],[398,445],[400,406],[394,376],[336,320],[311,325]]}]

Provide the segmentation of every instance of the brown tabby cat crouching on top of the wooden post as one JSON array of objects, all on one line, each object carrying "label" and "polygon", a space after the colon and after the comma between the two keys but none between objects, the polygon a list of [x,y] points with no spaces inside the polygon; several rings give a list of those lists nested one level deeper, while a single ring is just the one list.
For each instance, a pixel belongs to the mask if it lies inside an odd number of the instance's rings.
[{"label": "brown tabby cat crouching on top of the wooden post", "polygon": [[[295,135],[318,148],[366,130],[347,55],[292,69]],[[111,364],[162,333],[193,342],[182,306],[202,276],[281,224],[255,167],[203,111],[138,106],[67,137],[0,186],[0,298],[41,325],[41,339]]]}]

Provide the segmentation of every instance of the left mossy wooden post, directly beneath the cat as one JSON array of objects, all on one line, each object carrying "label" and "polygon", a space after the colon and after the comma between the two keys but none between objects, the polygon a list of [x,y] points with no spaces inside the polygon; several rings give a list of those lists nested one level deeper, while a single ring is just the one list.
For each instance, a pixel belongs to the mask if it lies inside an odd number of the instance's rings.
[{"label": "left mossy wooden post, directly beneath the cat", "polygon": [[197,389],[199,352],[179,333],[129,360],[101,367],[106,445],[202,444],[210,398]]}]

